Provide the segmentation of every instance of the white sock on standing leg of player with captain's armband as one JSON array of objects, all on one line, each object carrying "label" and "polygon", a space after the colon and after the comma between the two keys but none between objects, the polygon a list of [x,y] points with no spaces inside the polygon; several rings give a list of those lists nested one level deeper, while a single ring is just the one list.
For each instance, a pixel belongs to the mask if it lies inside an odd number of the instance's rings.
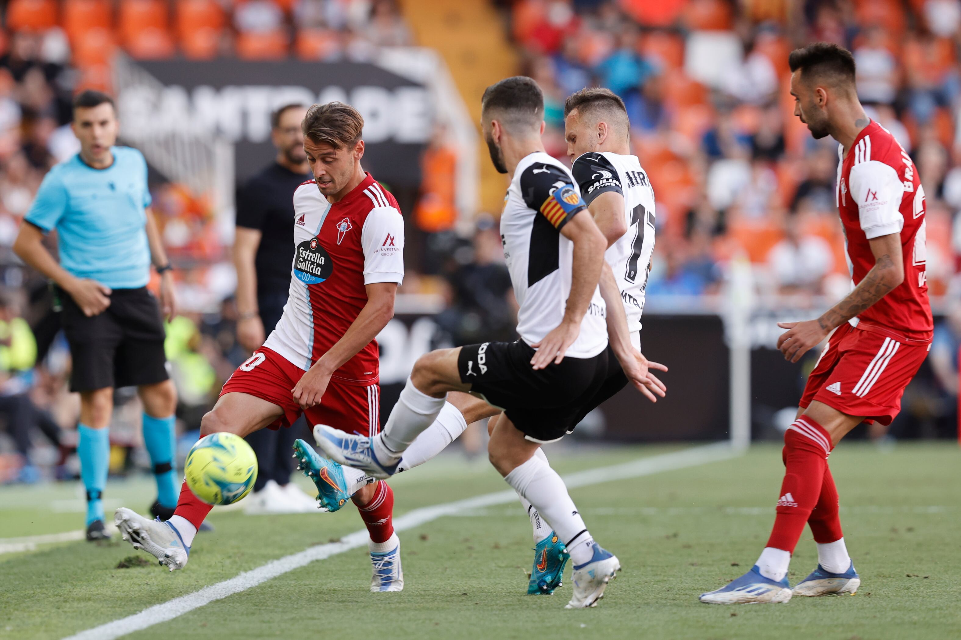
[{"label": "white sock on standing leg of player with captain's armband", "polygon": [[[542,459],[532,456],[505,476],[505,481],[540,512],[561,540],[575,564],[583,564],[593,556],[594,540],[584,526],[578,508],[557,472]],[[590,540],[590,544],[583,542]]]}]

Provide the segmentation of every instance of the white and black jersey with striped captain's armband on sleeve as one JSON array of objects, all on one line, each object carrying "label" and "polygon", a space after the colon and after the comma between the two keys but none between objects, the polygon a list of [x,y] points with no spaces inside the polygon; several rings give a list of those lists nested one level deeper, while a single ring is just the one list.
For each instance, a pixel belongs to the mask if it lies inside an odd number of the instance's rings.
[{"label": "white and black jersey with striped captain's armband on sleeve", "polygon": [[[560,228],[585,208],[571,172],[554,157],[536,152],[517,165],[501,215],[501,242],[520,304],[517,333],[527,344],[540,342],[564,318],[574,243]],[[566,356],[593,358],[604,351],[604,309],[604,298],[595,288],[578,339]]]}]

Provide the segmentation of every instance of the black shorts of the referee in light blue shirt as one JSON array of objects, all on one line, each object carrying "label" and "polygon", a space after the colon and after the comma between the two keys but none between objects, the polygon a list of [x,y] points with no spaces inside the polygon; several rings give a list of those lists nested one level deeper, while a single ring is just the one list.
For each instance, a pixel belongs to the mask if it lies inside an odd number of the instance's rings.
[{"label": "black shorts of the referee in light blue shirt", "polygon": [[69,294],[57,293],[73,360],[70,391],[152,385],[169,377],[160,305],[146,287],[114,289],[111,306],[90,318]]}]

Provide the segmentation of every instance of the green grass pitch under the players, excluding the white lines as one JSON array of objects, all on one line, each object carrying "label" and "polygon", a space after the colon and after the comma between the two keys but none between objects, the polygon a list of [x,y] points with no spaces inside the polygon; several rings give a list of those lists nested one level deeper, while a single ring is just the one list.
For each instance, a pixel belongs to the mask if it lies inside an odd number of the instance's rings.
[{"label": "green grass pitch under the players, excluding the white lines", "polygon": [[[549,449],[561,473],[678,447]],[[566,611],[571,587],[527,596],[530,524],[508,504],[442,517],[401,533],[406,587],[368,591],[363,548],[188,612],[131,637],[190,638],[828,638],[961,637],[961,452],[901,444],[842,444],[831,455],[845,538],[861,574],[854,597],[717,606],[697,596],[748,570],[774,518],[779,447],[648,477],[572,491],[591,532],[624,571],[594,609]],[[484,462],[441,458],[393,483],[397,513],[504,490]],[[111,483],[109,508],[144,509],[152,482]],[[10,538],[76,530],[76,485],[0,488],[0,549]],[[334,514],[245,516],[214,510],[184,571],[118,568],[140,555],[119,541],[38,544],[0,554],[0,638],[62,638],[131,615],[241,571],[361,527],[353,507]],[[805,533],[790,580],[817,555]],[[568,568],[570,577],[570,568]]]}]

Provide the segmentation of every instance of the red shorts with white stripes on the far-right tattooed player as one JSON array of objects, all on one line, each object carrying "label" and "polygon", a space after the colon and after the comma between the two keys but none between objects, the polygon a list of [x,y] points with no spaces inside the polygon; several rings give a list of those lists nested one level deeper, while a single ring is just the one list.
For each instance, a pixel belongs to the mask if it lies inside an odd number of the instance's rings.
[{"label": "red shorts with white stripes on the far-right tattooed player", "polygon": [[828,339],[799,405],[806,409],[817,400],[842,414],[891,424],[930,348],[930,342],[899,342],[846,322]]}]

